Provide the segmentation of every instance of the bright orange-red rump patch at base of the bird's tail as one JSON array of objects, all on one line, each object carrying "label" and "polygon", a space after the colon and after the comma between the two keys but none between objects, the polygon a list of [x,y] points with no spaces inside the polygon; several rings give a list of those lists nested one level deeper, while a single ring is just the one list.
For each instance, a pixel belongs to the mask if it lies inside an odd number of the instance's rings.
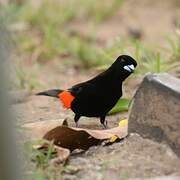
[{"label": "bright orange-red rump patch at base of the bird's tail", "polygon": [[68,91],[63,91],[58,95],[60,101],[63,103],[64,108],[71,108],[71,103],[74,100],[74,96]]}]

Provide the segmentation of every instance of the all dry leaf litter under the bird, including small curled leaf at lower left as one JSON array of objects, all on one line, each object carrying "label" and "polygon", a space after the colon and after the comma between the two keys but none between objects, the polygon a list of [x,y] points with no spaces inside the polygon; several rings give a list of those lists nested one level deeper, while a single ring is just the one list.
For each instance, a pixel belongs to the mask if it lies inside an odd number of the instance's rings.
[{"label": "all dry leaf litter under the bird, including small curled leaf at lower left", "polygon": [[50,163],[60,164],[66,162],[74,150],[88,150],[91,146],[109,145],[125,138],[128,120],[123,119],[117,127],[103,130],[68,127],[67,119],[27,123],[23,128],[31,140],[45,140],[43,144],[34,145],[34,149],[48,154],[49,146],[53,145]]}]

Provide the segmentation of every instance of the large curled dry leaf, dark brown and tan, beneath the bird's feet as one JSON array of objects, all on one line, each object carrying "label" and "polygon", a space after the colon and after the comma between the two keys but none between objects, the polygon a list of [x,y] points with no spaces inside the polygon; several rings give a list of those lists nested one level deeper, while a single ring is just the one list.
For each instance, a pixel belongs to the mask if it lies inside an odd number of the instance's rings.
[{"label": "large curled dry leaf, dark brown and tan, beneath the bird's feet", "polygon": [[[31,137],[53,141],[56,146],[67,148],[70,151],[74,149],[87,150],[89,147],[97,145],[104,140],[112,140],[111,138],[114,136],[118,139],[122,139],[128,134],[127,120],[121,121],[118,127],[107,130],[89,130],[57,126],[59,124],[60,121],[54,120],[43,123],[31,123],[29,125],[27,124],[25,127],[31,129]],[[110,142],[114,141],[112,140]]]}]

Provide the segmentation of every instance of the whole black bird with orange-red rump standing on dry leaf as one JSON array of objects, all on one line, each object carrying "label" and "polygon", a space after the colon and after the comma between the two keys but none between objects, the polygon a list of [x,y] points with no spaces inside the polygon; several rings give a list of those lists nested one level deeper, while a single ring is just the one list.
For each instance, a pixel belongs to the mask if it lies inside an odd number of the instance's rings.
[{"label": "whole black bird with orange-red rump standing on dry leaf", "polygon": [[106,128],[105,117],[122,96],[122,83],[133,73],[136,66],[137,62],[132,57],[121,55],[106,71],[88,81],[67,90],[52,89],[37,95],[59,98],[65,108],[75,113],[76,127],[79,118],[86,116],[99,117]]}]

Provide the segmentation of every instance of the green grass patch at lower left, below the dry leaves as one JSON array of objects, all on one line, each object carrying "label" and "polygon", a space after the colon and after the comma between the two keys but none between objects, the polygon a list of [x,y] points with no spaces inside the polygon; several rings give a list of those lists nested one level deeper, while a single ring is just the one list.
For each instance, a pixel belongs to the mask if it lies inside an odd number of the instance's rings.
[{"label": "green grass patch at lower left, below the dry leaves", "polygon": [[[55,156],[55,150],[52,143],[49,143],[46,151],[34,149],[34,145],[47,143],[44,140],[26,141],[24,143],[24,164],[27,163],[25,178],[34,180],[54,180],[62,179],[61,171],[63,167],[55,167],[50,164],[50,160]],[[62,169],[62,170],[61,170]]]}]

